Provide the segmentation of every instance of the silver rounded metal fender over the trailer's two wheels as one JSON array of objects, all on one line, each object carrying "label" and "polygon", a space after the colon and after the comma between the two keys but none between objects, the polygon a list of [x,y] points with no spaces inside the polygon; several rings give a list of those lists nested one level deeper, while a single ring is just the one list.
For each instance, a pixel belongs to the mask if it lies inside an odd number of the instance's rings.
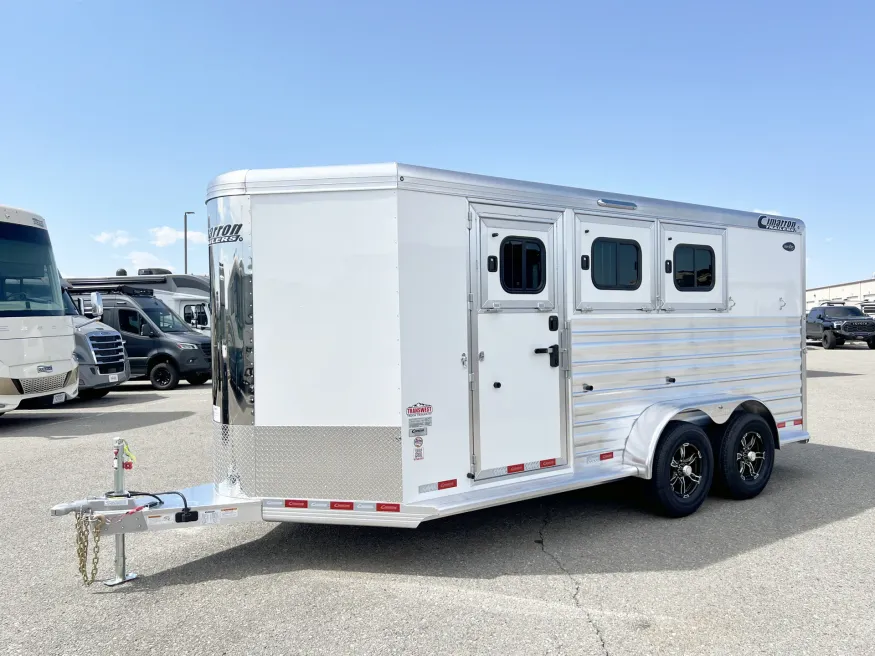
[{"label": "silver rounded metal fender over the trailer's two wheels", "polygon": [[[656,445],[668,422],[677,418],[692,420],[697,415],[707,415],[715,424],[724,424],[742,406],[763,415],[775,430],[774,419],[766,405],[752,396],[715,397],[686,403],[654,403],[645,408],[632,425],[626,438],[623,464],[636,467],[639,477],[649,479],[652,476]],[[777,442],[777,432],[775,436]]]}]

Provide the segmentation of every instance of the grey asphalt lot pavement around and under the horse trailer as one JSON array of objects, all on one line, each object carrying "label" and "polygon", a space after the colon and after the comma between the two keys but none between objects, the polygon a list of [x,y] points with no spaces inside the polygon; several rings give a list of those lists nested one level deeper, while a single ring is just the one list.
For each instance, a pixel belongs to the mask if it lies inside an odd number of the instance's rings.
[{"label": "grey asphalt lot pavement around and under the horse trailer", "polygon": [[[813,441],[758,498],[651,515],[621,482],[415,530],[247,524],[130,535],[86,588],[61,501],[211,478],[209,385],[0,418],[0,654],[871,654],[875,351],[809,349]],[[112,571],[112,540],[101,574]]]}]

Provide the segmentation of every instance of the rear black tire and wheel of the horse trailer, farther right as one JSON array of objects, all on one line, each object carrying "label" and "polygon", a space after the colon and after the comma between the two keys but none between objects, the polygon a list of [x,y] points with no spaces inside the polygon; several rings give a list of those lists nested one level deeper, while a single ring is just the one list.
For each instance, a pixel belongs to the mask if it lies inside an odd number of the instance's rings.
[{"label": "rear black tire and wheel of the horse trailer, farther right", "polygon": [[730,499],[753,499],[766,488],[774,466],[775,436],[769,423],[751,413],[730,419],[717,451],[717,490]]}]

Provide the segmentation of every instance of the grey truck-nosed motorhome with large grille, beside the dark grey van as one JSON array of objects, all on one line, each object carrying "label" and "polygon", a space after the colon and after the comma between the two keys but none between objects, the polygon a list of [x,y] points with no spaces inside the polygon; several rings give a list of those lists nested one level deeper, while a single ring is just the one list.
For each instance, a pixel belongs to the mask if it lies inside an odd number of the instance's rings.
[{"label": "grey truck-nosed motorhome with large grille, beside the dark grey van", "polygon": [[61,287],[65,313],[73,318],[75,329],[73,357],[79,364],[79,398],[102,398],[131,377],[122,336],[100,321],[102,308],[94,318],[84,317],[70,297],[70,283],[62,279]]}]

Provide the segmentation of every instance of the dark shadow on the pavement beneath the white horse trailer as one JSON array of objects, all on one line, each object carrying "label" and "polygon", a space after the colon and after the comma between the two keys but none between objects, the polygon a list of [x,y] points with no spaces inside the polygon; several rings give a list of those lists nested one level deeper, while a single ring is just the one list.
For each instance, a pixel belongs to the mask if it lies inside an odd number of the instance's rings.
[{"label": "dark shadow on the pavement beneath the white horse trailer", "polygon": [[668,520],[635,481],[425,522],[416,530],[279,524],[263,537],[145,576],[129,592],[300,570],[491,579],[689,571],[875,508],[875,453],[786,449],[758,498],[711,497]]}]

